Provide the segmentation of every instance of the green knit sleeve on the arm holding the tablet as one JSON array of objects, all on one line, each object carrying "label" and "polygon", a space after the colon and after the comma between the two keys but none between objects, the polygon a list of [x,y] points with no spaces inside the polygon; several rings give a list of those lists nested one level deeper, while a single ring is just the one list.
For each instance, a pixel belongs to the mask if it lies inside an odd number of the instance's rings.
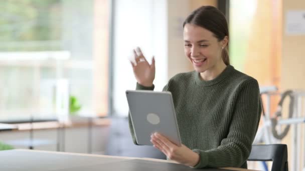
[{"label": "green knit sleeve on the arm holding the tablet", "polygon": [[259,86],[255,79],[241,85],[226,138],[217,148],[193,149],[200,156],[195,168],[240,167],[249,157],[261,115]]}]

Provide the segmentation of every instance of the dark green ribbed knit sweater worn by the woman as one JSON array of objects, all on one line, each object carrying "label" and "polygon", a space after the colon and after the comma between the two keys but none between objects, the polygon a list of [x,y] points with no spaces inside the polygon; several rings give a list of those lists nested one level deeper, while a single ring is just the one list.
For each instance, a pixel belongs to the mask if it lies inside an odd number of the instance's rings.
[{"label": "dark green ribbed knit sweater worn by the woman", "polygon": [[[153,90],[154,85],[137,83],[136,89]],[[196,168],[247,168],[261,114],[256,79],[228,65],[209,81],[196,71],[179,73],[163,90],[173,95],[182,143],[200,155]]]}]

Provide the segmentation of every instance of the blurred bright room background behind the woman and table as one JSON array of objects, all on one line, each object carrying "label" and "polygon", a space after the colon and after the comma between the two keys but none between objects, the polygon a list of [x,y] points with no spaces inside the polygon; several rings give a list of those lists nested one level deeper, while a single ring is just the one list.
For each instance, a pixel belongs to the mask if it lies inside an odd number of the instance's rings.
[{"label": "blurred bright room background behind the woman and table", "polygon": [[[136,46],[148,61],[155,55],[159,91],[193,70],[182,23],[201,5],[225,13],[231,64],[266,90],[255,143],[285,143],[289,169],[305,168],[304,0],[1,0],[0,123],[17,128],[0,132],[0,149],[161,156],[132,143],[125,90],[136,80],[128,60]],[[290,129],[277,139],[270,118],[286,90],[294,110],[285,99],[276,129]]]}]

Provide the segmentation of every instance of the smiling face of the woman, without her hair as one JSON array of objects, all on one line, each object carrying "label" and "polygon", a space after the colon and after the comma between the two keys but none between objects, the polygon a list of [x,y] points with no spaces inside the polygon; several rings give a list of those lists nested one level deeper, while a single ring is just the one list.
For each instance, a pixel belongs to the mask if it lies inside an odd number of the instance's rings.
[{"label": "smiling face of the woman, without her hair", "polygon": [[197,72],[213,70],[218,64],[222,64],[221,51],[227,38],[218,41],[211,31],[189,23],[184,26],[183,37],[185,55]]}]

